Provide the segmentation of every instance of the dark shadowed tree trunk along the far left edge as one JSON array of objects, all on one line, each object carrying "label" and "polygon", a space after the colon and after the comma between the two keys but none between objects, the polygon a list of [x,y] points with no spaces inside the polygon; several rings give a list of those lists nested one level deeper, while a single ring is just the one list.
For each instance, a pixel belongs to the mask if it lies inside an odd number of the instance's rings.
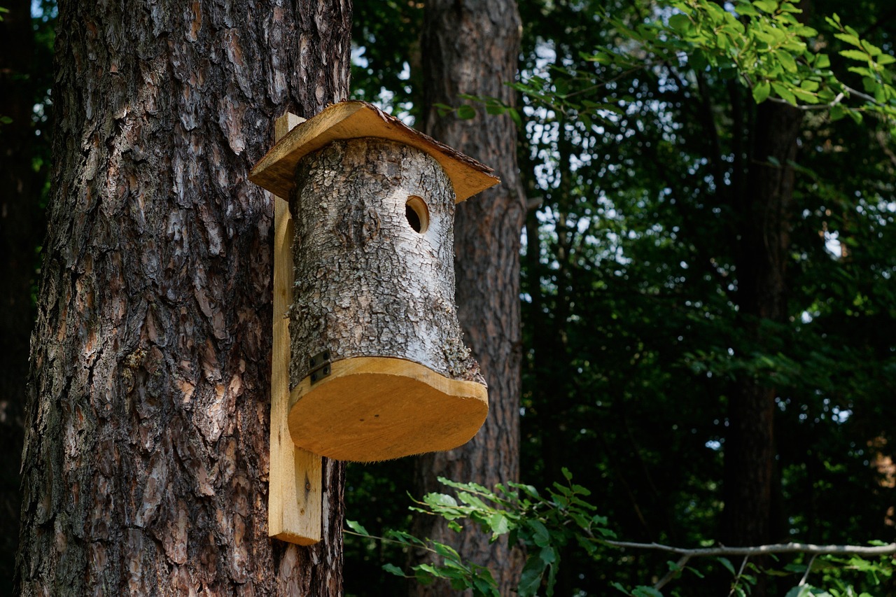
[{"label": "dark shadowed tree trunk along the far left edge", "polygon": [[30,2],[4,2],[0,22],[0,594],[13,594],[13,562],[19,538],[19,457],[28,376],[28,342],[34,315],[31,283],[39,244],[39,196],[31,168],[34,128],[34,33]]}]

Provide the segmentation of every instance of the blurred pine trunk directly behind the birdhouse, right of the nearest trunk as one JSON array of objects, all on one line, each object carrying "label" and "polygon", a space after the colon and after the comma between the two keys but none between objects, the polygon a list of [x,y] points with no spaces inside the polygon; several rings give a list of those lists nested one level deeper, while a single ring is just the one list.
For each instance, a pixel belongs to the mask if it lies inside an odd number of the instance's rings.
[{"label": "blurred pine trunk directly behind the birdhouse, right of the nearest trunk", "polygon": [[[461,93],[513,104],[505,82],[516,75],[520,16],[513,0],[426,3],[423,36],[426,73],[425,132],[495,169],[501,186],[458,205],[454,221],[458,318],[465,341],[488,383],[486,424],[469,444],[418,459],[418,494],[444,489],[437,476],[487,486],[519,478],[520,235],[525,199],[516,166],[516,130],[510,117],[471,120],[439,117],[436,103],[459,105]],[[468,528],[461,537],[433,517],[418,516],[418,536],[452,543],[492,569],[501,594],[516,589],[520,554],[504,541]],[[414,586],[417,595],[448,594],[447,584]]]}]

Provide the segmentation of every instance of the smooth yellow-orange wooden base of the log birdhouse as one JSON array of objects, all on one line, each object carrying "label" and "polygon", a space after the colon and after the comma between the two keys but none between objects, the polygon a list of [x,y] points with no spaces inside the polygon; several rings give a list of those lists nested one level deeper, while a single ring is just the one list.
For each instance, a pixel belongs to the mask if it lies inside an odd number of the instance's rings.
[{"label": "smooth yellow-orange wooden base of the log birdhouse", "polygon": [[450,450],[485,422],[487,392],[405,359],[341,359],[292,390],[289,434],[314,454],[362,463]]}]

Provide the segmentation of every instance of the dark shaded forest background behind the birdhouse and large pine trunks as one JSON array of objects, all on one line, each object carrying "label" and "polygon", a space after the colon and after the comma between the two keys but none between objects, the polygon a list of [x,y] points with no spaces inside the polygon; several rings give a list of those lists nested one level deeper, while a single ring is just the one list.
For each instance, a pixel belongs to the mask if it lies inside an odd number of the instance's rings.
[{"label": "dark shaded forest background behind the birdhouse and large pine trunks", "polygon": [[[896,9],[864,0],[815,0],[809,8],[800,21],[816,31],[807,37],[814,52],[829,56],[828,69],[872,98],[885,89],[888,80],[874,88],[863,82],[866,74],[849,71],[855,60],[840,54],[854,48],[842,39],[849,33],[837,37],[824,17],[836,11],[880,50],[874,58],[893,53]],[[739,531],[755,532],[754,542],[893,541],[892,122],[863,108],[868,102],[857,95],[843,110],[830,100],[821,102],[826,109],[809,108],[817,104],[797,96],[792,103],[806,109],[790,110],[782,104],[790,88],[770,83],[762,91],[761,82],[713,61],[712,48],[681,57],[681,48],[651,46],[662,36],[639,26],[675,23],[668,3],[526,2],[520,11],[520,108],[513,114],[530,205],[521,480],[547,487],[564,482],[568,469],[591,489],[609,528],[630,541],[690,547],[723,539],[737,526],[725,508],[735,499],[762,508],[764,527]],[[5,36],[0,52],[6,61],[33,49],[33,63],[13,65],[22,76],[4,78],[30,99],[15,104],[21,95],[5,90],[0,97],[4,160],[16,157],[5,161],[4,175],[18,169],[21,180],[25,164],[33,197],[19,212],[4,212],[15,225],[4,224],[0,260],[4,305],[11,306],[0,354],[10,521],[18,518],[22,356],[48,188],[55,6],[35,4],[28,13],[30,39]],[[355,3],[353,93],[409,123],[424,110],[422,22],[419,3]],[[692,36],[688,43],[701,42]],[[507,111],[481,98],[444,110],[458,118]],[[756,220],[766,170],[787,190]],[[751,403],[769,408],[737,411]],[[753,437],[768,446],[760,463],[744,447]],[[763,468],[761,497],[730,493]],[[350,465],[348,518],[374,534],[409,528],[410,500],[402,496],[414,494],[412,476],[409,461]],[[17,535],[3,536],[6,578]],[[403,564],[397,549],[350,538],[346,549],[347,593],[406,590],[406,581],[382,570]],[[607,550],[591,560],[570,545],[562,556],[559,594],[650,584],[667,571],[668,556],[650,552]],[[782,586],[802,573],[790,574]],[[685,575],[674,586],[700,594],[706,582]],[[869,588],[893,590],[892,582]]]}]

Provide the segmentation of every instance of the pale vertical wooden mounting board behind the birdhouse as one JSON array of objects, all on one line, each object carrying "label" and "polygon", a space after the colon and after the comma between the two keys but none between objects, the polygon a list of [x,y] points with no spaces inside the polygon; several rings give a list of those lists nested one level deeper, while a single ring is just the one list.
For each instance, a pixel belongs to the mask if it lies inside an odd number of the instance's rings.
[{"label": "pale vertical wooden mounting board behind the birdhouse", "polygon": [[[280,140],[305,122],[285,114],[274,124]],[[289,177],[292,175],[290,173]],[[289,316],[292,302],[292,218],[289,204],[274,197],[274,306],[271,357],[271,470],[268,535],[311,545],[321,541],[321,457],[297,448],[289,436]]]}]

